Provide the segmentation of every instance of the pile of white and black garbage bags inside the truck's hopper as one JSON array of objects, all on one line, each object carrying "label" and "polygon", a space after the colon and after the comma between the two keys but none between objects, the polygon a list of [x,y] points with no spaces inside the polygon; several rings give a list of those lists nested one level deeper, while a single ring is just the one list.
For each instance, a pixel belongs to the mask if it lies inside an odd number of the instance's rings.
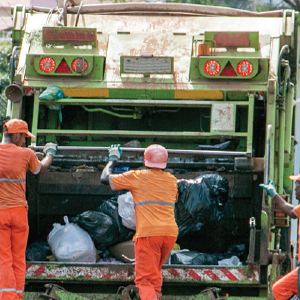
[{"label": "pile of white and black garbage bags inside the truck's hopper", "polygon": [[[205,174],[194,180],[178,180],[178,201],[175,204],[175,218],[179,227],[178,240],[185,246],[186,240],[194,240],[196,247],[192,251],[173,253],[171,263],[218,264],[227,255],[204,253],[201,235],[209,226],[217,227],[224,218],[228,204],[228,180],[218,174]],[[228,209],[227,209],[228,213]],[[69,221],[70,220],[70,221]],[[97,208],[97,211],[85,211],[76,217],[65,217],[65,225],[53,224],[48,243],[51,252],[58,261],[95,262],[99,252],[108,247],[129,241],[135,233],[135,214],[133,198],[130,192],[112,197]],[[186,238],[192,236],[192,238]],[[72,236],[72,238],[69,238]],[[76,238],[74,238],[76,237]],[[190,246],[187,244],[187,246]],[[189,248],[190,249],[190,248]],[[213,253],[215,247],[208,252]],[[241,252],[236,255],[240,255]]]}]

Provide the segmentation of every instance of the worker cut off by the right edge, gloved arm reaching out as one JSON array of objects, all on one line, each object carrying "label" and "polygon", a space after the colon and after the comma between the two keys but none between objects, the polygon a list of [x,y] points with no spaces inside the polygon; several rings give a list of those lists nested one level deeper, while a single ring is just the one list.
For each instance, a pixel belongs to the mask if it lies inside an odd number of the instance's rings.
[{"label": "worker cut off by the right edge, gloved arm reaching out", "polygon": [[[300,174],[296,176],[290,176],[291,180],[295,180],[295,193],[296,199],[300,200]],[[300,204],[293,206],[282,199],[276,192],[275,186],[272,181],[268,185],[260,184],[270,196],[275,204],[280,207],[287,215],[292,219],[299,218],[300,216]],[[275,300],[298,300],[298,272],[299,267],[295,268],[279,280],[277,280],[272,286],[272,292]]]}]

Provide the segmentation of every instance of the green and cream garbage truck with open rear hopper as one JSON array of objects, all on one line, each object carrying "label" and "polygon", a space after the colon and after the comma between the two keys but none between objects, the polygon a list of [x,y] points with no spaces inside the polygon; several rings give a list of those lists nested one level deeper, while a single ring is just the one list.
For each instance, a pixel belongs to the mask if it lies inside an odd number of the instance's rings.
[{"label": "green and cream garbage truck with open rear hopper", "polygon": [[[179,226],[178,249],[162,268],[162,299],[273,299],[272,284],[299,260],[297,226],[259,184],[273,180],[292,203],[298,12],[64,1],[52,9],[15,6],[12,18],[7,118],[28,123],[35,138],[26,147],[38,157],[46,143],[58,145],[50,169],[27,176],[28,249],[47,244],[66,216],[76,221],[126,192],[100,183],[111,144],[123,150],[115,173],[142,168],[144,149],[161,144],[179,196],[205,183],[204,201],[212,197],[216,206],[190,211],[190,227]],[[226,183],[223,203],[211,177]],[[190,207],[200,196],[189,192]],[[221,217],[194,222],[213,210]],[[69,299],[44,295],[45,284],[85,299],[122,299],[120,288],[134,281],[134,257],[120,262],[109,249],[98,249],[96,262],[51,254],[28,260],[24,299]],[[219,264],[173,259],[176,253],[232,255]]]}]

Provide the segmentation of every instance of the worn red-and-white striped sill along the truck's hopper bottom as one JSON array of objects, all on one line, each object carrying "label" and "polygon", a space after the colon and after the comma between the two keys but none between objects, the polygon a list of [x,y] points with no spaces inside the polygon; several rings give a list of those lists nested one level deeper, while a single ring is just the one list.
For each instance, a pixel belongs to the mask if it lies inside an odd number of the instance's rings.
[{"label": "worn red-and-white striped sill along the truck's hopper bottom", "polygon": [[[162,276],[165,282],[178,283],[260,283],[259,267],[246,266],[178,266],[164,265]],[[31,263],[26,267],[26,280],[31,281],[76,281],[76,282],[132,282],[135,278],[133,264],[82,265],[79,263]]]}]

